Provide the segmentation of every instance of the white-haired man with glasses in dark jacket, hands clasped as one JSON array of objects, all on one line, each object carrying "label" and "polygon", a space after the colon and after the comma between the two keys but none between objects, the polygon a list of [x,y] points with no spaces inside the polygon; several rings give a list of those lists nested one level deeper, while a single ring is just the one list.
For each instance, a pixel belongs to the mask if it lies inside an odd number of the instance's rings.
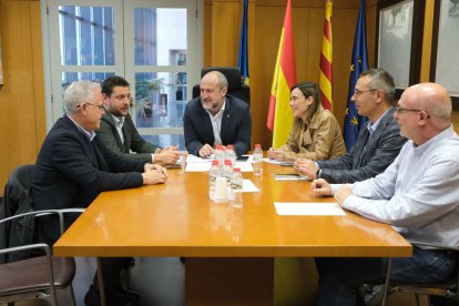
[{"label": "white-haired man with glasses in dark jacket, hands clasped", "polygon": [[[33,175],[33,208],[88,207],[103,191],[165,183],[161,165],[128,160],[106,150],[94,131],[104,113],[101,88],[90,81],[72,83],[64,94],[65,115],[58,120],[40,150]],[[67,220],[69,226],[74,220]],[[54,218],[40,218],[38,239],[53,245],[59,238]],[[108,305],[136,305],[139,297],[124,290],[119,276],[130,258],[102,258]],[[84,303],[100,305],[98,278]]]}]

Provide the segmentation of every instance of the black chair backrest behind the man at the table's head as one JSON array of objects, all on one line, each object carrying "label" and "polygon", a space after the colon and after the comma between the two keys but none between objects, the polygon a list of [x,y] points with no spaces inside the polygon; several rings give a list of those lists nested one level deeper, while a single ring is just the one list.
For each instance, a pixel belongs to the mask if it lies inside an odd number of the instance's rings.
[{"label": "black chair backrest behind the man at the table's head", "polygon": [[[206,67],[201,70],[201,78],[207,72],[220,71],[228,81],[228,94],[251,104],[251,88],[242,83],[241,69],[237,67]],[[200,96],[200,85],[193,86],[193,99]]]}]

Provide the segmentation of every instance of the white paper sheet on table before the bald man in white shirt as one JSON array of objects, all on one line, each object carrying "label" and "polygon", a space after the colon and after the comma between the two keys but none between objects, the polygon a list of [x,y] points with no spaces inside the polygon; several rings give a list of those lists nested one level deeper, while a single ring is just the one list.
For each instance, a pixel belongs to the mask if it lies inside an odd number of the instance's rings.
[{"label": "white paper sheet on table before the bald man in white shirt", "polygon": [[284,216],[344,216],[338,203],[274,202],[276,213]]}]

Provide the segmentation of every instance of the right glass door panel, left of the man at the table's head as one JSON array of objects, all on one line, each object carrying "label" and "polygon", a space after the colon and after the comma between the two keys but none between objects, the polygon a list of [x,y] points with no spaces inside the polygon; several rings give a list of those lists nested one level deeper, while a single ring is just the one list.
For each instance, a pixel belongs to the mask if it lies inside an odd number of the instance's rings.
[{"label": "right glass door panel, left of the man at the table's head", "polygon": [[125,71],[135,96],[131,115],[141,135],[162,146],[185,147],[183,112],[203,64],[196,4],[134,0],[124,7]]}]

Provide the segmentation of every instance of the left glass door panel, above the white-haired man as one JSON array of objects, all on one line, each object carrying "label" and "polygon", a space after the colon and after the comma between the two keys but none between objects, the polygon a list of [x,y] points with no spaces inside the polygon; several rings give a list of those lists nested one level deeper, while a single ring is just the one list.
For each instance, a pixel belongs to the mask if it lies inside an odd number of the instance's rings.
[{"label": "left glass door panel, above the white-haired man", "polygon": [[[124,75],[122,1],[49,1],[45,75],[47,126],[64,113],[62,98],[76,80],[102,82],[106,76]],[[47,57],[48,55],[48,57]],[[48,76],[48,78],[47,78]]]}]

